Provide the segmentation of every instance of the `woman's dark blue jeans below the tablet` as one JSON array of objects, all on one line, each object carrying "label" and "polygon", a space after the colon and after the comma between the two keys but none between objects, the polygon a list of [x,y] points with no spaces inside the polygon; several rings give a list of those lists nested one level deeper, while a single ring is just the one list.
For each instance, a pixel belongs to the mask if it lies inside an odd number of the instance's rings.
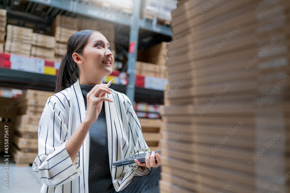
[{"label": "woman's dark blue jeans below the tablet", "polygon": [[[159,193],[161,166],[151,168],[146,176],[134,176],[131,182],[120,193]],[[111,193],[116,193],[114,189]]]}]

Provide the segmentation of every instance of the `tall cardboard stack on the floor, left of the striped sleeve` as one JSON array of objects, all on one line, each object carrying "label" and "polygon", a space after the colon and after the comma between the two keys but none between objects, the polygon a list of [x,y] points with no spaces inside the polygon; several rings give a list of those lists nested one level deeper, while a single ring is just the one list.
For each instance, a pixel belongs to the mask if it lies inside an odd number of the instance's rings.
[{"label": "tall cardboard stack on the floor, left of the striped sleeve", "polygon": [[17,103],[16,135],[14,137],[13,157],[17,166],[29,166],[38,152],[38,128],[41,114],[47,99],[54,92],[28,89]]}]

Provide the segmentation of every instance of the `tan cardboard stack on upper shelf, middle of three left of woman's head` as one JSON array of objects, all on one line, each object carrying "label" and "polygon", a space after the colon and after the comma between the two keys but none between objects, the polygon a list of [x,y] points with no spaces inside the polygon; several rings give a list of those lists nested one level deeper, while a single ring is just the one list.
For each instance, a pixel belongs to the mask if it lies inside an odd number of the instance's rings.
[{"label": "tan cardboard stack on upper shelf, middle of three left of woman's head", "polygon": [[54,59],[55,37],[33,33],[31,56]]}]

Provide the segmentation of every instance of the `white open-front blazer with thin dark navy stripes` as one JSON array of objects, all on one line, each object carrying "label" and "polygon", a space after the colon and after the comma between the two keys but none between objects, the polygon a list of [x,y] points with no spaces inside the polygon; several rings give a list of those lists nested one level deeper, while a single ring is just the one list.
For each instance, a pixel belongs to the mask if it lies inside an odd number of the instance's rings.
[{"label": "white open-front blazer with thin dark navy stripes", "polygon": [[[113,168],[112,163],[131,155],[150,152],[150,149],[144,141],[130,99],[113,89],[111,92],[106,97],[114,102],[104,103],[110,172],[114,188],[119,192],[130,183],[133,176],[147,175],[151,168],[139,168],[136,164]],[[94,173],[88,171],[90,131],[74,162],[65,148],[66,141],[84,120],[85,111],[79,79],[70,88],[48,98],[39,121],[38,156],[32,165],[43,181],[40,192],[89,193],[88,176]]]}]

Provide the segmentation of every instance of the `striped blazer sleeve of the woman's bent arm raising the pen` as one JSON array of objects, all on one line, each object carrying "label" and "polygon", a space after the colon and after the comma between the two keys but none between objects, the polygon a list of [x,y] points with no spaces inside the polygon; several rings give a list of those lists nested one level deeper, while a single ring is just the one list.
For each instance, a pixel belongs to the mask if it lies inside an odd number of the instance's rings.
[{"label": "striped blazer sleeve of the woman's bent arm raising the pen", "polygon": [[48,186],[57,186],[77,178],[81,173],[79,157],[72,162],[67,150],[68,101],[57,95],[48,98],[38,128],[38,156],[32,169]]}]

